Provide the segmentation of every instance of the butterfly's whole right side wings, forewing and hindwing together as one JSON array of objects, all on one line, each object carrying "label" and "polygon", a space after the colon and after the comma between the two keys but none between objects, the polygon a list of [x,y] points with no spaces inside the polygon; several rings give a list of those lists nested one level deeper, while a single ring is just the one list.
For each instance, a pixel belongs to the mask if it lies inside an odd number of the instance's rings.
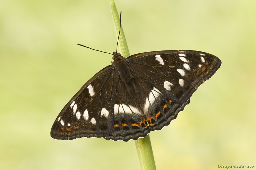
[{"label": "butterfly's whole right side wings, forewing and hindwing together", "polygon": [[143,107],[151,130],[169,125],[189,104],[195,90],[221,66],[216,56],[191,50],[140,53],[127,60],[151,86]]}]

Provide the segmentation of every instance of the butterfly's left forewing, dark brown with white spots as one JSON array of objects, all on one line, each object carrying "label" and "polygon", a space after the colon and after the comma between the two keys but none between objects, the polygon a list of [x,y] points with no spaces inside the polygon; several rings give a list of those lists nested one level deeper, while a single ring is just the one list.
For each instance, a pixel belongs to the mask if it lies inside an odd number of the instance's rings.
[{"label": "butterfly's left forewing, dark brown with white spots", "polygon": [[61,110],[51,137],[71,140],[108,136],[113,128],[113,78],[112,65],[95,74]]}]

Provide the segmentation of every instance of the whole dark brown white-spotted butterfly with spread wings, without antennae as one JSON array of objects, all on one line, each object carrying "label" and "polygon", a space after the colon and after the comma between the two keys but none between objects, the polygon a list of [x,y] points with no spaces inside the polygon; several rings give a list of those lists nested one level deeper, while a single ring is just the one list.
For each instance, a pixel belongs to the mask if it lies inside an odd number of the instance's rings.
[{"label": "whole dark brown white-spotted butterfly with spread wings, without antennae", "polygon": [[216,56],[191,50],[113,55],[113,64],[95,74],[62,109],[52,138],[137,140],[169,125],[221,66]]}]

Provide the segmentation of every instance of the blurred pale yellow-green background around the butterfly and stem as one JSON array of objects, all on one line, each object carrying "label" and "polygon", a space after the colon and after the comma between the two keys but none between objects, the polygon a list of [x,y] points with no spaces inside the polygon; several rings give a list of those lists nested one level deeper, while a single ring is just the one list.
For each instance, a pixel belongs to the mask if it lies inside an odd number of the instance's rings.
[{"label": "blurred pale yellow-green background around the butterfly and stem", "polygon": [[[223,62],[176,120],[150,133],[157,169],[256,166],[256,2],[115,4],[131,55],[188,49]],[[65,104],[112,61],[77,43],[115,50],[108,0],[0,1],[0,169],[141,169],[134,141],[50,137]]]}]

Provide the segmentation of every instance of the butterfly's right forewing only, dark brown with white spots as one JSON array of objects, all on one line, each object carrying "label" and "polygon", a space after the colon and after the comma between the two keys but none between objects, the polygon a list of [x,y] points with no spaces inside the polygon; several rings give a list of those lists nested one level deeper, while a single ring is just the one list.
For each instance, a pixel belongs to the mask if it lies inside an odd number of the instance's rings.
[{"label": "butterfly's right forewing only, dark brown with white spots", "polygon": [[192,50],[152,51],[127,60],[141,78],[180,104],[188,101],[221,66],[218,57]]}]

